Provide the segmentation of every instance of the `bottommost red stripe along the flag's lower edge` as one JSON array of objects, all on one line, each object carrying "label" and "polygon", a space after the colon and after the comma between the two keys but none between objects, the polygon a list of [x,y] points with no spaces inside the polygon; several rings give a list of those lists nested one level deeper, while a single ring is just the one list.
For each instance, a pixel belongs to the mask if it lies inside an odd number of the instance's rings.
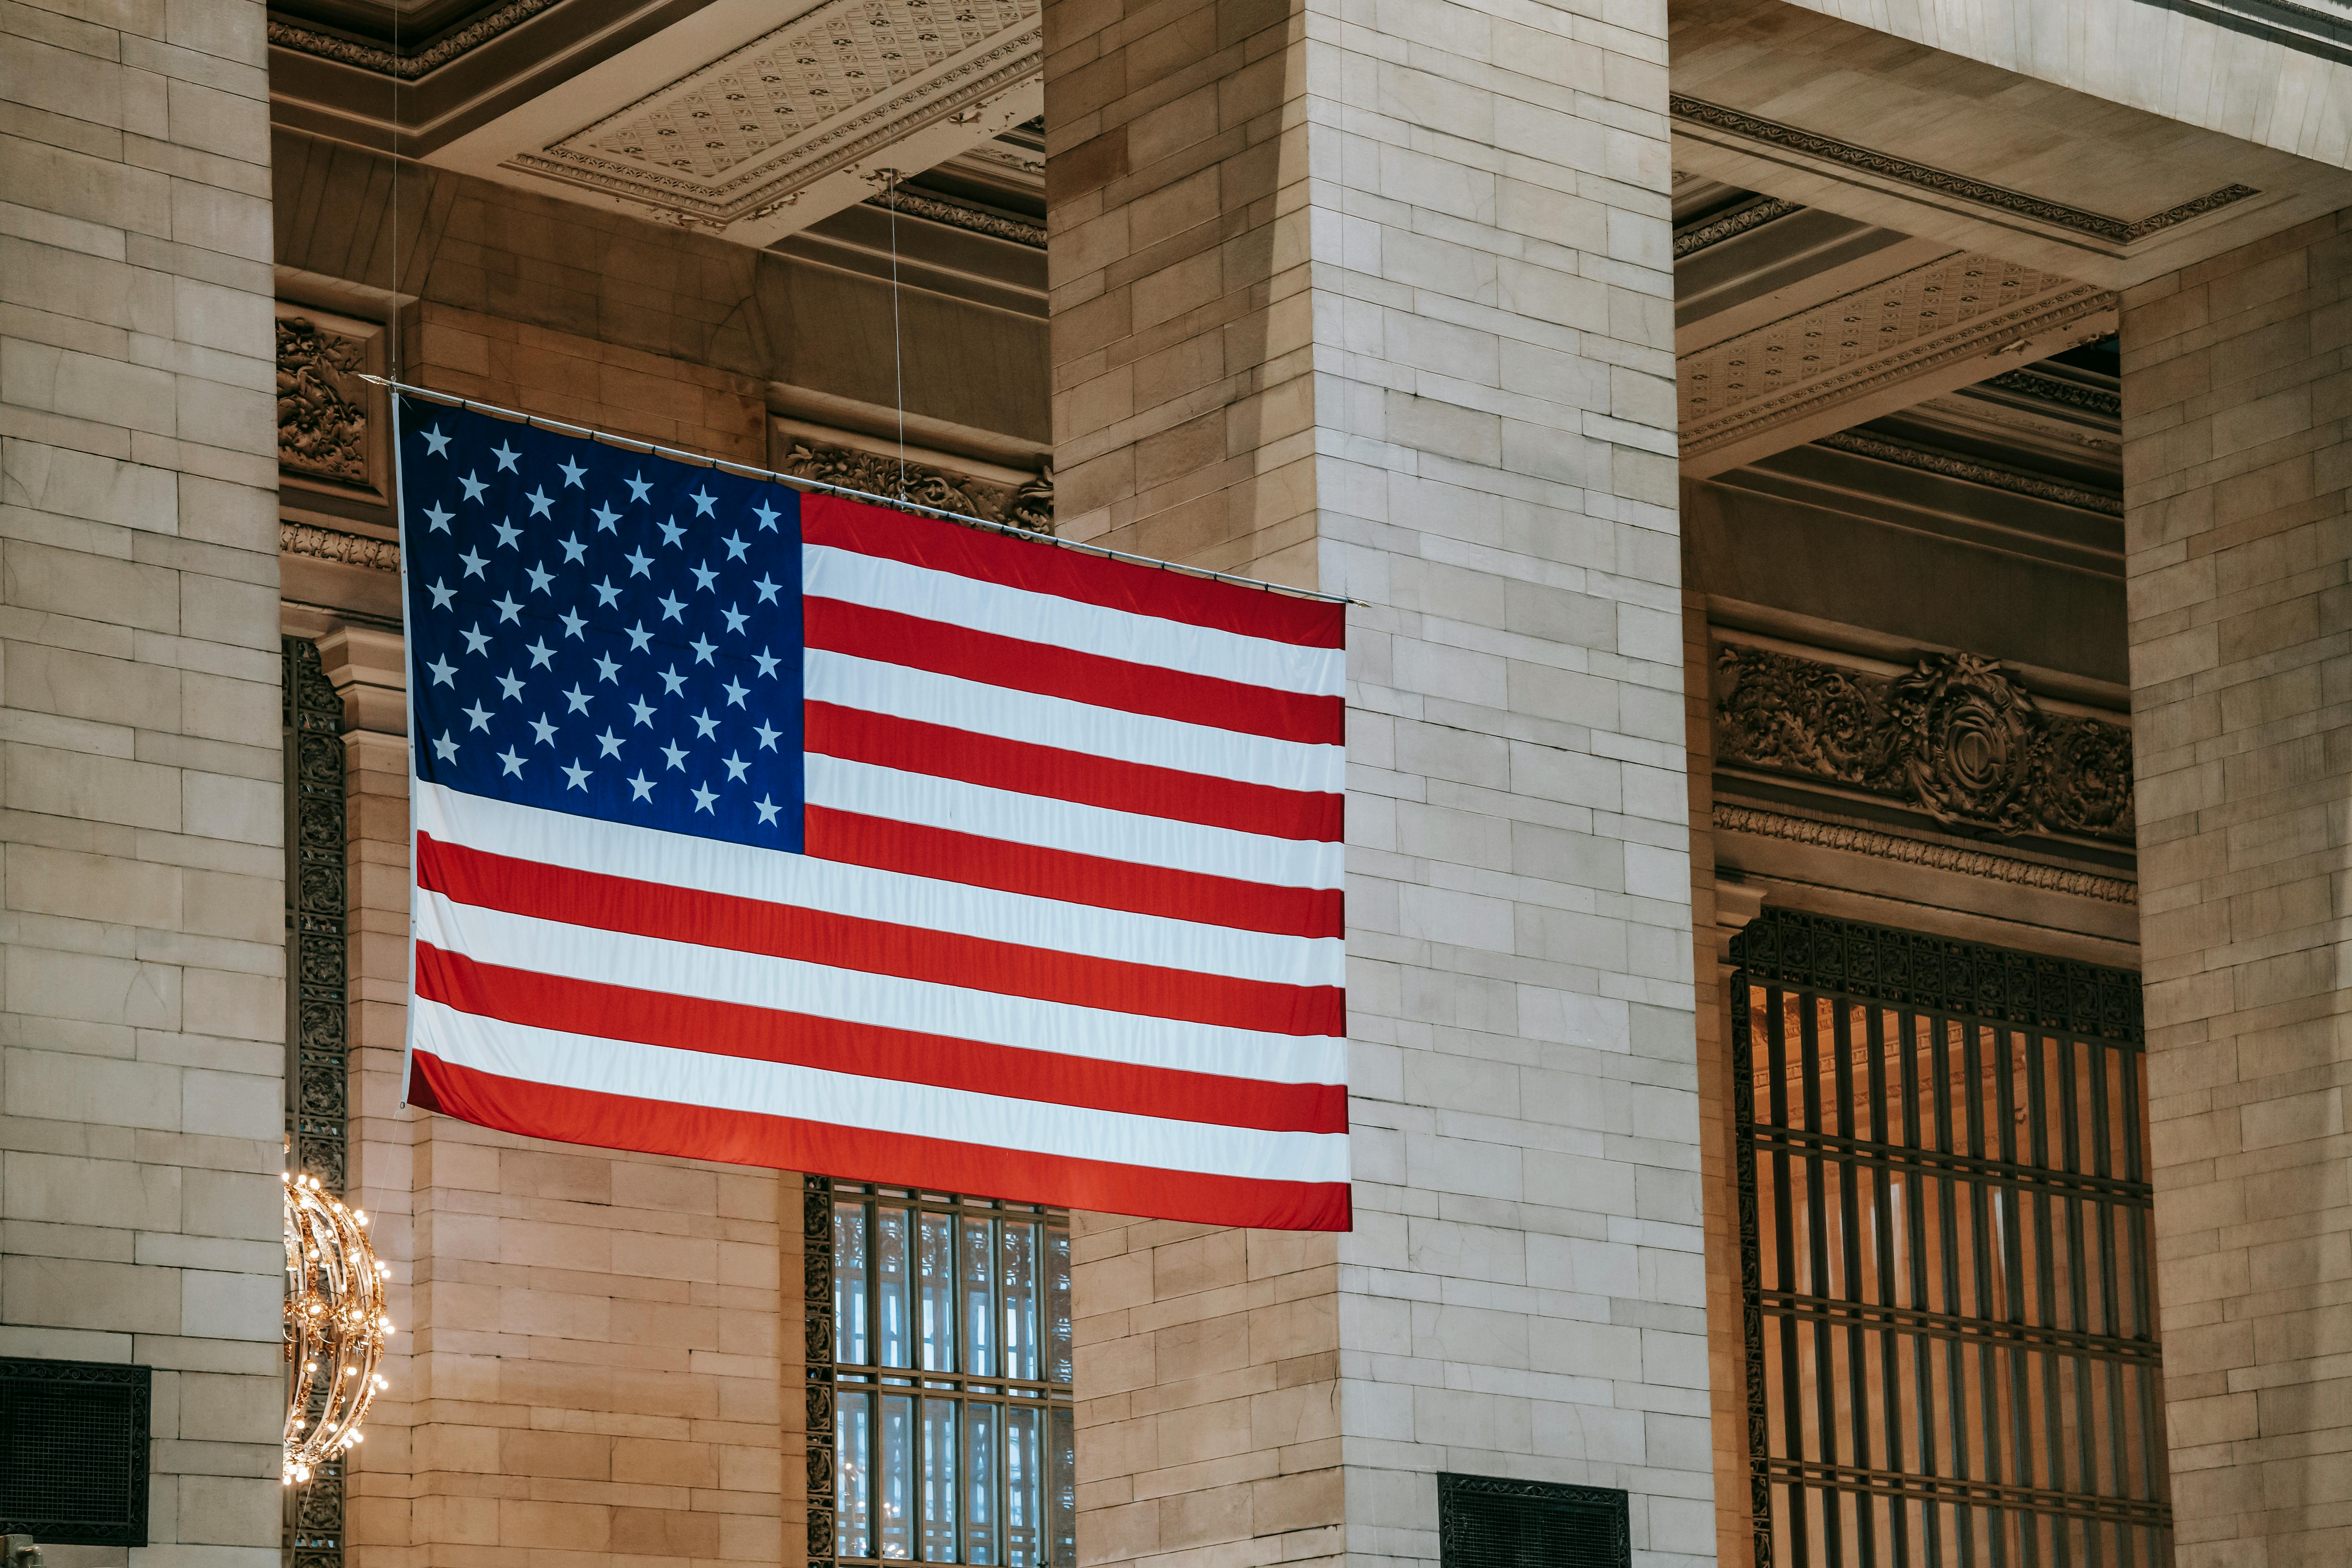
[{"label": "bottommost red stripe along the flag's lower edge", "polygon": [[503,1079],[416,1051],[409,1103],[527,1138],[586,1143],[866,1182],[988,1192],[1018,1204],[1148,1213],[1192,1225],[1348,1229],[1345,1182],[1272,1182],[995,1150],[757,1112]]}]

